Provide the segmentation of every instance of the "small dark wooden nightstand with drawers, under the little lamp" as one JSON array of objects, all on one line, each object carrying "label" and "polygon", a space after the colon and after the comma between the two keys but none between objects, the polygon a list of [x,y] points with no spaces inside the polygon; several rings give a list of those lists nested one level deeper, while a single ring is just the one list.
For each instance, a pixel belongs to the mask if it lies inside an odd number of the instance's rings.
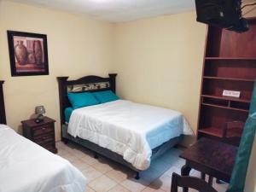
[{"label": "small dark wooden nightstand with drawers, under the little lamp", "polygon": [[27,119],[21,121],[23,136],[56,154],[55,120],[44,117],[44,121],[38,124],[35,123],[34,120],[35,119]]}]

